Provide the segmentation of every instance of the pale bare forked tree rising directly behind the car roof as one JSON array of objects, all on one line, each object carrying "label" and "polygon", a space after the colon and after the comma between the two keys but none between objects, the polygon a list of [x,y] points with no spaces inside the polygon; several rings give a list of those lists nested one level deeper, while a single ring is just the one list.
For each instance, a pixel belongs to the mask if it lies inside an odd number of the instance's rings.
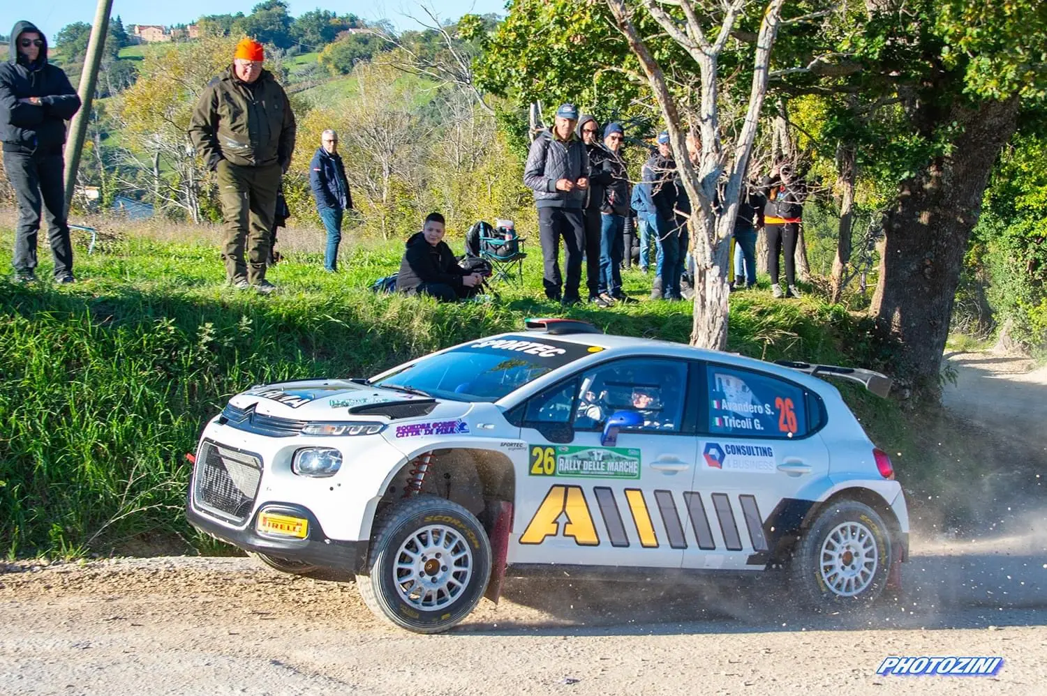
[{"label": "pale bare forked tree rising directly behind the car roof", "polygon": [[[703,27],[703,23],[708,22],[706,18],[710,13],[694,0],[640,0],[639,3],[627,0],[606,1],[619,30],[640,60],[651,91],[658,99],[684,188],[692,201],[689,227],[695,262],[695,293],[691,343],[722,350],[727,346],[728,331],[729,243],[766,95],[771,49],[783,23],[781,8],[784,0],[770,0],[763,12],[753,57],[753,80],[744,121],[737,136],[727,143],[720,126],[719,58],[742,15],[745,0],[725,0],[721,4],[717,3],[722,9],[722,19],[718,32],[712,40],[711,35]],[[646,39],[641,36],[634,21],[637,14],[641,12],[649,15],[698,65],[700,105],[696,114],[681,113],[682,102],[673,93],[662,66],[648,48]],[[688,156],[687,149],[687,131],[694,126],[697,126],[701,142],[696,162]],[[713,204],[717,194],[722,201],[720,209],[716,209]]]}]

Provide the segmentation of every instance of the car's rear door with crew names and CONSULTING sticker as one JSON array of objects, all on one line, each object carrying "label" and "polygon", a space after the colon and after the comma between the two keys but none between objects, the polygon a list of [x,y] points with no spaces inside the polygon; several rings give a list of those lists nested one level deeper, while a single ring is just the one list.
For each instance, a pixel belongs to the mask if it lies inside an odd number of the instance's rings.
[{"label": "car's rear door with crew names and CONSULTING sticker", "polygon": [[828,475],[821,403],[770,373],[708,362],[701,376],[698,465],[685,494],[697,544],[684,567],[761,569],[809,509],[801,491]]}]

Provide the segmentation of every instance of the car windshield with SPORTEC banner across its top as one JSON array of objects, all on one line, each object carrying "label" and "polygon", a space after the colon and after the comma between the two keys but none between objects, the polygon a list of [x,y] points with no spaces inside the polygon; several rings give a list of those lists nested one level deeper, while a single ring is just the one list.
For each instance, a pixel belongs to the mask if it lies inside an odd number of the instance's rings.
[{"label": "car windshield with SPORTEC banner across its top", "polygon": [[505,336],[428,356],[371,383],[451,401],[497,401],[528,382],[603,349],[542,336]]}]

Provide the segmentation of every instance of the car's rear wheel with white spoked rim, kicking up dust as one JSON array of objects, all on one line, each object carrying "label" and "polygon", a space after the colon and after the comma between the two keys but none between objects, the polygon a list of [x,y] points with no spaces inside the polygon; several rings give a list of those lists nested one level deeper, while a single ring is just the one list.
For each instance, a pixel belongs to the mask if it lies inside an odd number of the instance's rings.
[{"label": "car's rear wheel with white spoked rim, kicking up dust", "polygon": [[839,500],[818,514],[794,548],[790,584],[815,611],[862,609],[884,591],[891,558],[883,517],[865,503]]}]

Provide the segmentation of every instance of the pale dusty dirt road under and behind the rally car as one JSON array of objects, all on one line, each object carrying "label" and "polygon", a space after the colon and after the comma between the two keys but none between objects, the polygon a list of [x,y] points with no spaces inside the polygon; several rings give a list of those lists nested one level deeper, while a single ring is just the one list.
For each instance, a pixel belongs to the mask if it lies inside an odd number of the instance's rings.
[{"label": "pale dusty dirt road under and behind the rally car", "polygon": [[[981,359],[957,363],[946,404],[1047,437],[1039,377]],[[374,619],[351,583],[250,559],[0,566],[0,693],[1047,694],[1047,515],[1005,522],[915,536],[905,593],[850,619],[783,610],[768,585],[509,581],[499,605],[419,636]],[[995,677],[877,676],[888,655],[1004,664]]]}]

